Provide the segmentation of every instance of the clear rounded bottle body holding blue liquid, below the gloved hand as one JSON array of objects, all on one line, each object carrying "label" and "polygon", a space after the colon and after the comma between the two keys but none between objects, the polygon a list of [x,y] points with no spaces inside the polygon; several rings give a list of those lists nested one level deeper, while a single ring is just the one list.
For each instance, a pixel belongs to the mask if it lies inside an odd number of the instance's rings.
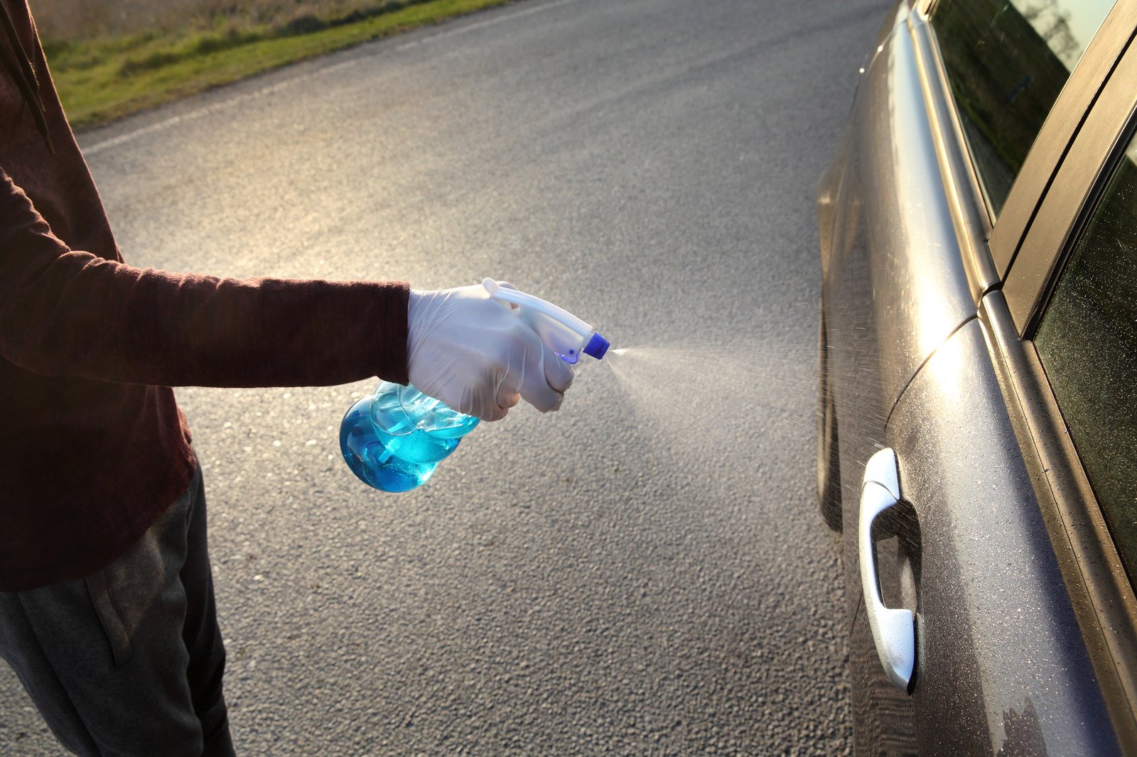
[{"label": "clear rounded bottle body holding blue liquid, below the gloved hand", "polygon": [[340,450],[351,472],[380,491],[409,491],[434,473],[479,423],[413,385],[384,381],[351,406]]}]

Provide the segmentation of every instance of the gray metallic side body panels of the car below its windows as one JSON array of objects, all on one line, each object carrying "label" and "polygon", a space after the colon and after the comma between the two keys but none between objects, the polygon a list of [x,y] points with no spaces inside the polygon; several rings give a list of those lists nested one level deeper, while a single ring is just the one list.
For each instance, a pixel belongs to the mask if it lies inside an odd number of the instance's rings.
[{"label": "gray metallic side body panels of the car below its windows", "polygon": [[[1077,524],[1062,519],[1035,451],[1040,405],[1016,393],[1031,364],[1003,292],[1012,266],[988,244],[935,34],[915,5],[886,20],[818,189],[819,466],[840,481],[839,501],[823,507],[840,508],[856,749],[1121,754],[1132,746],[1124,681],[1099,675],[1118,665],[1095,635],[1093,591],[1071,577],[1088,558],[1069,554]],[[1059,105],[1076,109],[1073,97]],[[1076,128],[1052,118],[1038,144],[1069,143]],[[1037,206],[1057,170],[1059,157],[1039,168],[1044,158],[1028,159],[1001,216],[1004,236],[1019,224],[1016,247],[1040,233],[1021,207]],[[858,572],[862,479],[883,447],[896,452],[904,506],[882,534],[896,536],[877,548],[879,582],[886,604],[915,612],[910,692],[885,675]]]}]

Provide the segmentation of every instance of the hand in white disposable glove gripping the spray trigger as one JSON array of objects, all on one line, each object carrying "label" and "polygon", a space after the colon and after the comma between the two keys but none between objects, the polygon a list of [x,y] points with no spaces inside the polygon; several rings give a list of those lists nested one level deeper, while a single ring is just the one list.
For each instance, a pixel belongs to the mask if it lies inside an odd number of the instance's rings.
[{"label": "hand in white disposable glove gripping the spray trigger", "polygon": [[407,373],[424,394],[483,421],[504,418],[521,399],[556,410],[573,378],[537,332],[478,284],[412,290]]}]

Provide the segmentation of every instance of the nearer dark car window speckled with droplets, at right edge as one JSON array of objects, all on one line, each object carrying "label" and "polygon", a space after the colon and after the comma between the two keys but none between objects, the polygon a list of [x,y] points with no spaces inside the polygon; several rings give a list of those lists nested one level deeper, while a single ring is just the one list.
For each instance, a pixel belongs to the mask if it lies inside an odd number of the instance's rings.
[{"label": "nearer dark car window speckled with droplets, at right edge", "polygon": [[1137,140],[1057,281],[1035,347],[1137,585]]}]

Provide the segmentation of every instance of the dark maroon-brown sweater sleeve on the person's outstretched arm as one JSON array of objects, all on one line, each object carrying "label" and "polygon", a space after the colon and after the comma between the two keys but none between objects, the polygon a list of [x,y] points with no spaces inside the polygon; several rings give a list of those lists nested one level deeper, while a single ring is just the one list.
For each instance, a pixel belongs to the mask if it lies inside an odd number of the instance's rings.
[{"label": "dark maroon-brown sweater sleeve on the person's outstretched arm", "polygon": [[217,278],[70,250],[0,169],[0,355],[165,386],[407,382],[401,282]]}]

